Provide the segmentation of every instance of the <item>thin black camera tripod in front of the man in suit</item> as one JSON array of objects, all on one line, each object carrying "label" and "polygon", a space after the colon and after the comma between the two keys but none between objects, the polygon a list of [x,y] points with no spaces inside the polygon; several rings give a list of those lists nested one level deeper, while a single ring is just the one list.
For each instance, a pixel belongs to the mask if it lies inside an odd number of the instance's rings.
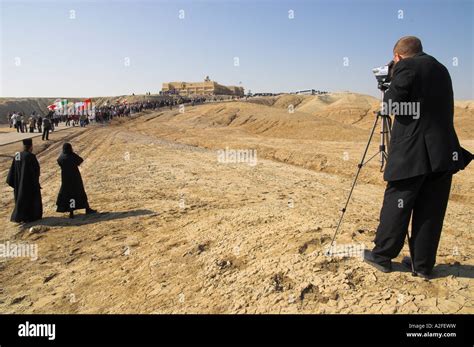
[{"label": "thin black camera tripod in front of the man in suit", "polygon": [[[383,101],[384,95],[385,95],[385,90],[386,87],[379,83],[379,89],[382,92],[381,99]],[[332,248],[334,246],[334,241],[336,240],[336,235],[339,232],[339,228],[341,227],[342,220],[344,218],[344,215],[347,210],[347,206],[349,205],[349,201],[352,197],[352,193],[354,191],[355,185],[357,183],[357,179],[359,178],[360,171],[362,168],[373,158],[376,156],[379,156],[380,160],[380,172],[383,172],[385,169],[385,164],[387,163],[388,160],[388,146],[390,144],[390,137],[391,137],[391,131],[392,131],[392,119],[390,116],[386,113],[388,112],[383,112],[384,110],[379,110],[374,112],[376,114],[374,125],[372,126],[372,130],[370,131],[369,135],[369,140],[367,141],[367,145],[365,146],[364,154],[362,155],[362,159],[360,163],[357,165],[357,172],[354,177],[354,180],[352,181],[352,186],[351,190],[349,191],[349,196],[347,197],[346,203],[344,207],[342,208],[341,212],[341,217],[339,218],[339,222],[337,223],[336,231],[334,232],[334,235],[331,240],[331,244],[329,246],[328,251],[326,252],[326,255],[331,255],[332,254]],[[370,157],[368,160],[365,160],[365,157],[367,156],[367,152],[370,147],[370,143],[372,142],[372,138],[374,137],[375,134],[375,129],[377,128],[377,124],[380,121],[380,145],[379,145],[379,151],[375,153],[372,157]],[[411,256],[411,269],[412,269],[412,274],[415,275],[415,268],[413,265],[414,257],[411,249],[411,238],[410,235],[407,232],[407,239],[408,239],[408,249],[410,251],[410,256]]]}]

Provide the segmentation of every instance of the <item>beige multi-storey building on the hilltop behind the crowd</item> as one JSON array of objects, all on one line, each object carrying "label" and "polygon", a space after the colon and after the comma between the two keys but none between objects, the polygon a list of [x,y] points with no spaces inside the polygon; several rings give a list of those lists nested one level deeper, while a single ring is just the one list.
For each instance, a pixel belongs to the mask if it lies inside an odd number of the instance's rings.
[{"label": "beige multi-storey building on the hilltop behind the crowd", "polygon": [[190,95],[235,95],[243,96],[244,88],[237,86],[223,86],[206,77],[204,82],[168,82],[163,83],[163,94]]}]

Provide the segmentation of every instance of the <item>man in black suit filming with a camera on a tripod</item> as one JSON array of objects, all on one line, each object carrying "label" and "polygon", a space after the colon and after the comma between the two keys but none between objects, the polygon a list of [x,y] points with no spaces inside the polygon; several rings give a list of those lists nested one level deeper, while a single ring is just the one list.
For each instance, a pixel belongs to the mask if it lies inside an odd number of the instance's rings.
[{"label": "man in black suit filming with a camera on a tripod", "polygon": [[425,54],[414,36],[398,40],[393,53],[392,81],[384,96],[384,111],[395,116],[384,173],[388,183],[375,247],[364,252],[364,260],[391,271],[391,259],[403,248],[411,218],[411,258],[402,263],[429,278],[452,175],[469,164],[472,154],[461,148],[454,130],[453,89],[446,67]]}]

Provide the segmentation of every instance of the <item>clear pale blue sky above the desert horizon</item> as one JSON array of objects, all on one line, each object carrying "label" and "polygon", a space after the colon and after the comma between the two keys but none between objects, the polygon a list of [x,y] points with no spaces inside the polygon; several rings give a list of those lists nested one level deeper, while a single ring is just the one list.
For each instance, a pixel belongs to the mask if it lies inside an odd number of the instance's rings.
[{"label": "clear pale blue sky above the desert horizon", "polygon": [[1,96],[157,93],[206,75],[252,92],[378,95],[371,69],[416,35],[455,98],[474,99],[473,0],[0,2]]}]

